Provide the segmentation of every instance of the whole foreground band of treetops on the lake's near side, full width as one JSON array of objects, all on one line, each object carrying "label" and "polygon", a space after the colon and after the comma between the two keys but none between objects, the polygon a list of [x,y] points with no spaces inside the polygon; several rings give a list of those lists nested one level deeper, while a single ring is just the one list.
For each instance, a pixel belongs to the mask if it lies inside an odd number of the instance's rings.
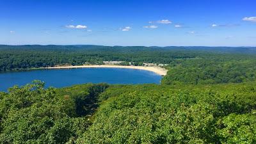
[{"label": "whole foreground band of treetops on the lake's near side, full width", "polygon": [[0,143],[256,143],[255,86],[35,81],[1,93]]}]

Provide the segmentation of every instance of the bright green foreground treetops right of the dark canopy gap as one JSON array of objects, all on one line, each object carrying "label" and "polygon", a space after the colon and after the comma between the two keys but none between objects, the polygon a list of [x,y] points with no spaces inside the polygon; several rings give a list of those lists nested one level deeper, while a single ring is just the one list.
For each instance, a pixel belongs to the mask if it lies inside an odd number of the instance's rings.
[{"label": "bright green foreground treetops right of the dark canopy gap", "polygon": [[77,143],[255,143],[255,88],[113,86]]}]

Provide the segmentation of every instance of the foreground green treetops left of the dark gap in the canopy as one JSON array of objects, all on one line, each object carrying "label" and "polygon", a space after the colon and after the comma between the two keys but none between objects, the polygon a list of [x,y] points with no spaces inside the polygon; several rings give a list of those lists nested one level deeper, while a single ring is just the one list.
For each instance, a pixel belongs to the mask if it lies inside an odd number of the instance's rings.
[{"label": "foreground green treetops left of the dark gap in the canopy", "polygon": [[85,116],[77,117],[85,115],[86,107],[77,104],[77,99],[97,99],[106,87],[83,84],[56,90],[35,81],[10,88],[9,93],[1,93],[0,143],[72,143],[90,123]]}]

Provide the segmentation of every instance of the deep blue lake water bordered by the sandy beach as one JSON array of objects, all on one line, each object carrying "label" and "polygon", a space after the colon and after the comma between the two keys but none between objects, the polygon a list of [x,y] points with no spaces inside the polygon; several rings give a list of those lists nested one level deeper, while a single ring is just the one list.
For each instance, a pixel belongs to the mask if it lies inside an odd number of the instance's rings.
[{"label": "deep blue lake water bordered by the sandy beach", "polygon": [[3,72],[0,73],[0,91],[6,92],[13,85],[22,86],[35,79],[44,81],[46,87],[60,88],[83,83],[159,84],[161,78],[154,72],[128,68],[69,68]]}]

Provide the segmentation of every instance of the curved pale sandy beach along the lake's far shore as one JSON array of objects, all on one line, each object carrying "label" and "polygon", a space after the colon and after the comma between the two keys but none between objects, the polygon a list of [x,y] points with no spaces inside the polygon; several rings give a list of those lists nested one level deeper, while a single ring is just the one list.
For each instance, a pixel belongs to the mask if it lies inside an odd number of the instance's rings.
[{"label": "curved pale sandy beach along the lake's far shore", "polygon": [[46,67],[46,69],[54,69],[54,68],[131,68],[138,70],[148,70],[151,72],[155,72],[161,76],[165,76],[167,74],[166,69],[161,67],[142,67],[142,66],[123,66],[123,65],[79,65],[79,66],[61,66],[61,67]]}]

